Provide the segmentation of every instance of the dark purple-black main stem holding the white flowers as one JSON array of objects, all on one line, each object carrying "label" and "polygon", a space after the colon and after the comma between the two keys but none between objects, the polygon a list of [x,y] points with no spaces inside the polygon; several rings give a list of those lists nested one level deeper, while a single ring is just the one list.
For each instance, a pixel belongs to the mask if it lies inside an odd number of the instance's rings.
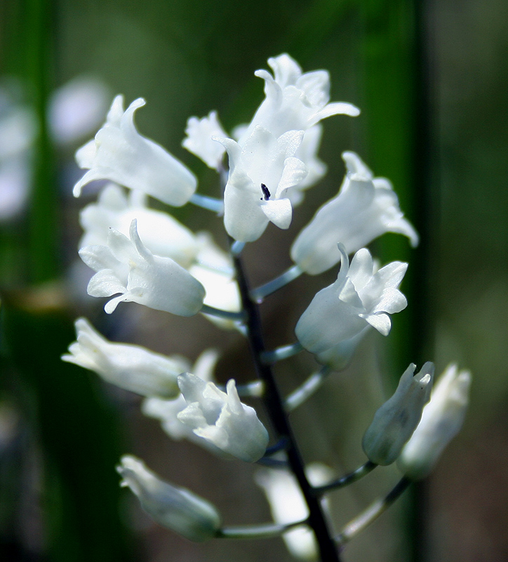
[{"label": "dark purple-black main stem holding the white flowers", "polygon": [[258,372],[258,376],[265,383],[265,405],[272,419],[272,423],[281,438],[287,441],[286,454],[290,469],[300,485],[302,494],[309,507],[309,527],[316,535],[319,545],[321,562],[340,562],[340,556],[335,545],[335,541],[330,535],[326,523],[325,514],[321,507],[321,502],[312,492],[312,486],[305,476],[305,467],[302,456],[298,450],[293,431],[290,428],[288,417],[283,406],[283,399],[276,386],[272,367],[262,362],[262,354],[265,353],[265,342],[263,341],[262,325],[258,304],[250,299],[249,287],[243,270],[243,264],[239,256],[233,256],[236,268],[236,277],[240,289],[243,310],[246,312],[247,335],[250,351]]}]

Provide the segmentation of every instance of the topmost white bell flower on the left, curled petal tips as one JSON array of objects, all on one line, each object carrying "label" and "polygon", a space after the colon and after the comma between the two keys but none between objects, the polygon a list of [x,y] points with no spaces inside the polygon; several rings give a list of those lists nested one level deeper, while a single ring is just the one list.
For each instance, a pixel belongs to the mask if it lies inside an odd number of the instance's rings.
[{"label": "topmost white bell flower on the left, curled petal tips", "polygon": [[174,207],[180,207],[192,197],[197,185],[194,174],[136,130],[134,112],[143,105],[145,100],[138,98],[124,112],[123,96],[114,98],[95,139],[76,152],[79,167],[89,169],[74,185],[76,197],[83,185],[99,179],[138,189]]}]

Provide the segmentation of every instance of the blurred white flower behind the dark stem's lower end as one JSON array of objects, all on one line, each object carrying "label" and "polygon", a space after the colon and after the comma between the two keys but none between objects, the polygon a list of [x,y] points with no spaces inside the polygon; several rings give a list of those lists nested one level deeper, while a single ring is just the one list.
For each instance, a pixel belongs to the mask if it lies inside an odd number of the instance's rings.
[{"label": "blurred white flower behind the dark stem's lower end", "polygon": [[[307,478],[314,486],[332,479],[332,471],[320,463],[305,467]],[[256,483],[265,492],[275,523],[286,525],[309,516],[309,508],[295,476],[282,470],[262,469],[255,475]],[[306,525],[290,529],[282,535],[290,554],[300,560],[315,560],[318,549],[314,533]]]}]

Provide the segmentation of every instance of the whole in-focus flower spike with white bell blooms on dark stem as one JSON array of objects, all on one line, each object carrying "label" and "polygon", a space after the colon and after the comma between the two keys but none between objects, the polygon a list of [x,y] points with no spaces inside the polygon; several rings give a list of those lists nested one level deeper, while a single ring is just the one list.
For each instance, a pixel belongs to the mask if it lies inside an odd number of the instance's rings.
[{"label": "whole in-focus flower spike with white bell blooms on dark stem", "polygon": [[[260,469],[257,481],[274,521],[235,527],[224,523],[206,499],[162,481],[140,459],[122,457],[117,466],[121,485],[131,488],[157,523],[195,541],[283,535],[295,556],[338,561],[346,542],[411,481],[431,471],[460,429],[471,377],[451,366],[432,390],[434,365],[427,362],[418,372],[410,365],[366,429],[362,466],[341,478],[323,466],[305,466],[288,414],[311,398],[326,377],[345,368],[368,331],[387,336],[391,315],[407,304],[399,290],[407,263],[379,267],[365,246],[387,232],[405,235],[412,246],[418,236],[399,209],[392,184],[375,178],[359,155],[344,152],[340,190],[295,237],[293,266],[265,285],[250,287],[243,247],[258,240],[269,222],[289,228],[293,207],[326,172],[317,156],[321,121],[359,115],[350,103],[330,103],[325,70],[304,73],[286,54],[268,64],[272,74],[255,72],[265,81],[265,99],[249,124],[236,127],[233,138],[216,112],[188,121],[182,144],[217,171],[222,197],[196,192],[194,174],[135,128],[134,113],[145,101],[135,100],[124,110],[122,96],[114,98],[95,139],[76,152],[79,166],[88,171],[74,186],[79,196],[91,181],[110,182],[98,201],[81,212],[79,255],[95,271],[88,294],[108,298],[109,314],[122,301],[133,301],[182,316],[202,313],[218,329],[237,329],[248,341],[258,379],[239,388],[232,379],[222,387],[213,381],[216,351],[204,351],[191,365],[180,356],[108,341],[84,318],[76,321],[76,341],[63,359],[144,396],[143,412],[160,419],[170,436],[188,438],[220,457],[271,465]],[[195,234],[171,214],[150,209],[147,195],[174,207],[191,203],[218,220],[223,217],[229,251],[208,233]],[[302,274],[319,275],[330,268],[338,269],[337,279],[308,303],[295,326],[297,341],[267,349],[260,320],[263,299]],[[305,350],[314,354],[319,369],[282,396],[274,365]],[[241,401],[244,396],[264,403],[270,433],[255,409]],[[344,528],[331,528],[328,492],[396,461],[399,483]],[[288,502],[293,506],[289,518]]]}]

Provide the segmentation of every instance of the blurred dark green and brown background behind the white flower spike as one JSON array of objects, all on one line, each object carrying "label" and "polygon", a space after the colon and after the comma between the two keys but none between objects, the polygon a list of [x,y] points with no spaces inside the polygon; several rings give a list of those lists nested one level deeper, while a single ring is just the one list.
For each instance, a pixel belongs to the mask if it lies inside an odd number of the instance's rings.
[{"label": "blurred dark green and brown background behind the white flower spike", "polygon": [[[135,399],[111,393],[96,377],[60,362],[74,339],[72,320],[83,311],[116,339],[128,337],[156,351],[185,351],[191,357],[199,346],[191,346],[188,335],[174,336],[175,327],[185,332],[187,325],[168,325],[161,315],[147,315],[152,328],[139,333],[129,327],[136,324],[132,318],[119,313],[116,320],[105,320],[96,303],[73,301],[65,276],[75,259],[83,202],[72,200],[65,171],[75,147],[55,150],[44,117],[51,91],[78,74],[104,80],[127,102],[143,96],[147,107],[137,116],[140,131],[192,166],[200,189],[214,193],[215,175],[180,147],[187,117],[217,109],[227,129],[248,120],[262,97],[253,70],[283,51],[304,70],[328,69],[333,100],[351,101],[362,110],[357,119],[326,122],[321,157],[328,176],[298,210],[292,233],[337,190],[343,174],[339,155],[349,149],[359,152],[376,175],[392,179],[402,209],[422,234],[417,251],[392,235],[377,244],[384,261],[410,261],[403,285],[410,306],[397,316],[381,350],[379,341],[363,348],[359,365],[327,387],[328,396],[337,400],[356,397],[349,410],[337,402],[323,414],[311,407],[307,418],[295,418],[295,426],[309,433],[304,436],[309,460],[324,458],[345,469],[361,462],[358,442],[350,445],[351,452],[340,440],[354,433],[354,411],[361,406],[373,412],[408,362],[434,358],[442,370],[458,360],[475,376],[467,425],[435,476],[413,500],[406,499],[368,530],[358,540],[363,546],[353,544],[345,559],[507,558],[502,529],[508,504],[503,466],[508,438],[503,407],[508,392],[508,23],[503,2],[9,0],[1,4],[0,17],[0,71],[20,81],[25,103],[34,107],[39,122],[29,208],[0,224],[0,400],[16,420],[13,439],[0,449],[0,558],[249,561],[287,556],[280,542],[196,549],[145,520],[138,521],[137,532],[126,522],[113,470],[126,450],[222,502],[231,517],[252,521],[252,515],[261,521],[267,510],[248,490],[250,473],[239,474],[239,465],[218,468],[190,445],[166,443],[156,424],[135,413]],[[206,214],[190,216],[187,208],[176,214],[193,228],[213,228]],[[263,258],[287,261],[273,245],[288,240],[269,230],[260,249],[248,254],[253,277],[263,280],[276,273]],[[316,290],[323,281],[307,280],[307,285]],[[288,318],[298,318],[304,308],[298,299],[307,285],[297,284],[286,294]],[[270,311],[267,320],[279,327]],[[204,321],[195,330],[203,338],[215,334]],[[216,334],[210,337],[212,344],[222,341]],[[241,357],[244,350],[233,338],[224,341],[232,362]],[[227,361],[223,368],[230,368]],[[361,379],[365,368],[369,375],[384,372],[385,379],[375,384]],[[316,400],[319,410],[319,396]],[[312,413],[316,418],[309,421]],[[369,415],[363,414],[365,423]],[[319,436],[323,419],[327,428],[334,419],[340,422],[342,433],[329,431],[337,450],[330,450],[326,433]],[[361,429],[356,431],[361,437]],[[184,466],[176,469],[176,464]],[[377,484],[388,485],[387,478]],[[375,493],[372,486],[347,500],[356,505]],[[228,500],[236,502],[235,508],[243,501],[246,514],[223,506]],[[338,518],[345,521],[340,511]],[[386,546],[380,548],[380,541]]]}]

